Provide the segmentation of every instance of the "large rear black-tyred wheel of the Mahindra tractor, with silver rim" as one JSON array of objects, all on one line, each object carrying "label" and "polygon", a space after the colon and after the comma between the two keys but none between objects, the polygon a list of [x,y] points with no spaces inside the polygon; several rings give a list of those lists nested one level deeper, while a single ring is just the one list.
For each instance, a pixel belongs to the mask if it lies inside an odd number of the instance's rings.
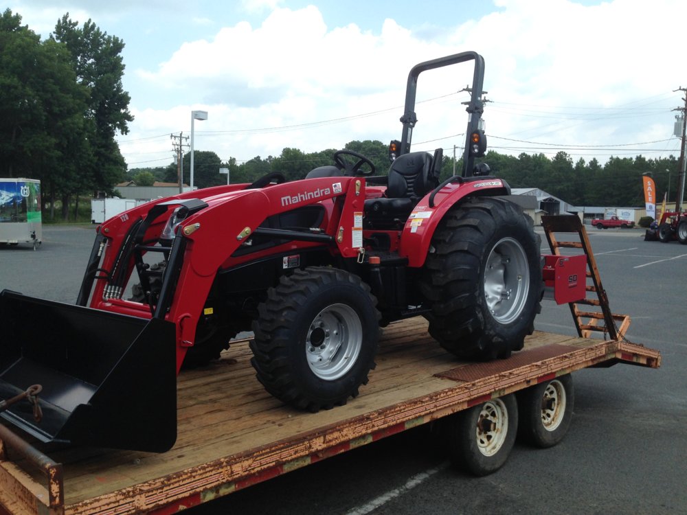
[{"label": "large rear black-tyred wheel of the Mahindra tractor, with silver rim", "polygon": [[420,290],[429,334],[462,358],[520,350],[541,310],[541,262],[532,219],[499,198],[453,207],[432,238]]}]

